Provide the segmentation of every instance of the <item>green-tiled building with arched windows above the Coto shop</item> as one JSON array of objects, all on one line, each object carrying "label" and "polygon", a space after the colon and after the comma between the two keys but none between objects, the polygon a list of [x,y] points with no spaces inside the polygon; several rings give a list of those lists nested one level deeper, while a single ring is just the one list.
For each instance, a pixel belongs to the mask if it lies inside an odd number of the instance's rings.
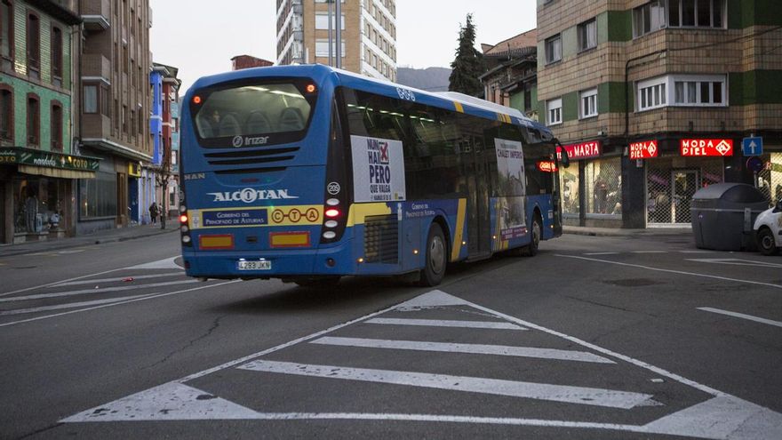
[{"label": "green-tiled building with arched windows above the Coto shop", "polygon": [[0,244],[73,235],[95,178],[73,141],[80,22],[75,0],[0,0]]}]

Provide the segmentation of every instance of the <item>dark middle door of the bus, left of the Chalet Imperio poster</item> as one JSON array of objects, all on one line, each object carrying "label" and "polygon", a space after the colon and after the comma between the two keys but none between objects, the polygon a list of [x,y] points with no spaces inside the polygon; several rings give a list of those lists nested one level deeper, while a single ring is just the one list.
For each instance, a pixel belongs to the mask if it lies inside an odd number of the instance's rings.
[{"label": "dark middle door of the bus, left of the Chalet Imperio poster", "polygon": [[467,181],[467,248],[468,258],[491,254],[491,215],[489,180],[486,170],[486,148],[483,136],[468,136],[463,141],[462,164]]}]

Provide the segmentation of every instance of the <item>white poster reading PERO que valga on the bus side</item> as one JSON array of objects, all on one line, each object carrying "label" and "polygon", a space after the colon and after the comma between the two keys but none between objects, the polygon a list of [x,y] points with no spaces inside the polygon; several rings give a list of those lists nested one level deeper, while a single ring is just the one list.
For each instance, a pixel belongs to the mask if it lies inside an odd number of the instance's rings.
[{"label": "white poster reading PERO que valga on the bus side", "polygon": [[402,141],[350,136],[356,202],[405,199]]}]

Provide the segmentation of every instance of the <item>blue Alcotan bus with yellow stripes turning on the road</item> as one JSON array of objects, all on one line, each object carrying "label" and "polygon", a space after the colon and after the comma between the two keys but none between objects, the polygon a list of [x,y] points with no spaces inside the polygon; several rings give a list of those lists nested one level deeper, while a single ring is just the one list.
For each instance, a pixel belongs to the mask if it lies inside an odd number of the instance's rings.
[{"label": "blue Alcotan bus with yellow stripes turning on the road", "polygon": [[[206,76],[181,116],[188,276],[415,277],[562,234],[555,139],[513,108],[323,65]],[[566,165],[566,164],[564,164]]]}]

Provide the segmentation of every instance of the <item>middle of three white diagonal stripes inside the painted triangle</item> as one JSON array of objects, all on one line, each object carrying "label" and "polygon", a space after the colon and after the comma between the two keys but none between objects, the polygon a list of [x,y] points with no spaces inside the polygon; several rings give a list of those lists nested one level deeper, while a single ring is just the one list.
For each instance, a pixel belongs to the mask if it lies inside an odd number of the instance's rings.
[{"label": "middle of three white diagonal stripes inside the painted triangle", "polygon": [[342,347],[391,348],[399,350],[439,351],[443,353],[470,353],[476,355],[535,357],[558,361],[594,362],[616,364],[614,361],[586,351],[559,350],[555,348],[510,347],[504,345],[457,344],[426,342],[418,340],[370,340],[363,338],[338,338],[324,336],[310,341],[311,344],[336,345]]}]

